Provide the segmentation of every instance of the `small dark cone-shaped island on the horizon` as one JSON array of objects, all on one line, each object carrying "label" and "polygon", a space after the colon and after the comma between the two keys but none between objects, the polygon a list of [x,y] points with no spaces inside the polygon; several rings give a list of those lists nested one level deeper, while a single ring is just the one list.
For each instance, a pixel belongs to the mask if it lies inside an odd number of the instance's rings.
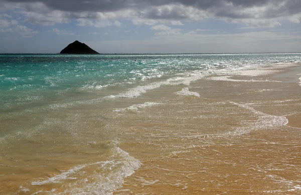
[{"label": "small dark cone-shaped island on the horizon", "polygon": [[70,43],[61,52],[61,54],[99,54],[85,43],[78,40]]}]

